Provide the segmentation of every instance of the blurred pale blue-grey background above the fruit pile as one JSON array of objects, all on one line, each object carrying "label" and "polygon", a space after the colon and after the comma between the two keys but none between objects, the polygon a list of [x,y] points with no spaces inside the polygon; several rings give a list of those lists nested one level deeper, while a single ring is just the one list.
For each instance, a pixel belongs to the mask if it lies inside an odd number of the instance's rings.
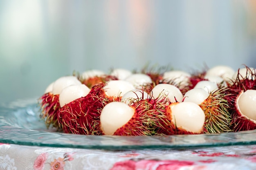
[{"label": "blurred pale blue-grey background above the fruit pile", "polygon": [[256,67],[255,0],[1,0],[0,102],[73,71]]}]

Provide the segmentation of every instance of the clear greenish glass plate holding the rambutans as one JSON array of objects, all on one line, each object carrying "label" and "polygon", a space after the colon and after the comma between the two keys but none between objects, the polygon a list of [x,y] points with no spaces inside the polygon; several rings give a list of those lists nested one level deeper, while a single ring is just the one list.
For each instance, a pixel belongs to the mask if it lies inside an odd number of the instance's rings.
[{"label": "clear greenish glass plate holding the rambutans", "polygon": [[193,148],[256,144],[256,130],[222,134],[147,137],[75,135],[47,129],[36,99],[0,106],[0,142],[27,146],[105,150]]}]

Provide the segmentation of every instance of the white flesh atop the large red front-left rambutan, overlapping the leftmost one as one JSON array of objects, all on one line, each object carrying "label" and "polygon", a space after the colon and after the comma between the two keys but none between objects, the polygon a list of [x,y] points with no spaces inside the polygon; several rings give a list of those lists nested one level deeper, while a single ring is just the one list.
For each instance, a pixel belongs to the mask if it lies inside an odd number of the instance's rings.
[{"label": "white flesh atop the large red front-left rambutan, overlapping the leftmost one", "polygon": [[89,92],[90,88],[88,88],[84,84],[70,85],[63,88],[59,95],[60,107],[63,107],[65,104],[68,104],[75,99],[85,97],[86,95],[88,95]]}]

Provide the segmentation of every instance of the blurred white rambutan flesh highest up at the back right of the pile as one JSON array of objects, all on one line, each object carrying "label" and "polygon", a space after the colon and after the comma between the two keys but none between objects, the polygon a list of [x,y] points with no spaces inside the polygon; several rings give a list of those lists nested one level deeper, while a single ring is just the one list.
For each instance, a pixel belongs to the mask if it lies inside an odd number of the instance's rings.
[{"label": "blurred white rambutan flesh highest up at the back right of the pile", "polygon": [[210,68],[205,76],[219,76],[225,81],[229,81],[234,75],[235,71],[233,68],[225,65],[218,65]]}]

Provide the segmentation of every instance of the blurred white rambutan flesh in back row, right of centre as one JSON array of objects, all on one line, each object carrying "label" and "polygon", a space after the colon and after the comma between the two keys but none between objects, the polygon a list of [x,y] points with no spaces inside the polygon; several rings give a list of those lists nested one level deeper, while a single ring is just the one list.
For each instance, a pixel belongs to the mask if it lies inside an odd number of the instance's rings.
[{"label": "blurred white rambutan flesh in back row, right of centre", "polygon": [[189,73],[177,70],[166,71],[163,74],[164,81],[171,81],[173,85],[181,87],[187,86],[189,84],[189,77],[191,77]]}]

